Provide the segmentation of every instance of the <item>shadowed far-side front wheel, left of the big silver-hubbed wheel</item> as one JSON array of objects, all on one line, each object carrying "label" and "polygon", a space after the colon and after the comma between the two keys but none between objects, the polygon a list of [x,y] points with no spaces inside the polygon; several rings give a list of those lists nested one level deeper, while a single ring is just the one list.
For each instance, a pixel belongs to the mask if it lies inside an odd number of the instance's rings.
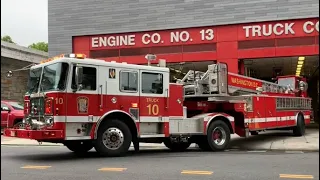
[{"label": "shadowed far-side front wheel, left of the big silver-hubbed wheel", "polygon": [[64,145],[75,154],[85,154],[93,148],[91,141],[67,141]]}]

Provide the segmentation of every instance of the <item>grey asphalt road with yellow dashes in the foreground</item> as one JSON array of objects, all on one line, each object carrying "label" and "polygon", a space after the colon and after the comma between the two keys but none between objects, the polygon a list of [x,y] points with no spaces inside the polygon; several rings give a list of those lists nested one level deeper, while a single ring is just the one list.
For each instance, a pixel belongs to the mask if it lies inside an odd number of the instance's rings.
[{"label": "grey asphalt road with yellow dashes in the foreground", "polygon": [[2,180],[318,180],[318,169],[319,153],[153,149],[102,158],[76,157],[65,147],[1,146]]}]

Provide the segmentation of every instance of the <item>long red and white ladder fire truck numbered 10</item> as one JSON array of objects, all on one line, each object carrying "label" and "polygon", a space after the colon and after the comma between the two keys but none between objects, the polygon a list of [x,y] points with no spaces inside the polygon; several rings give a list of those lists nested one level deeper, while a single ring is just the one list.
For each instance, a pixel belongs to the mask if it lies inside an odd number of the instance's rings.
[{"label": "long red and white ladder fire truck numbered 10", "polygon": [[303,77],[273,83],[213,63],[173,82],[165,60],[150,65],[156,56],[146,58],[148,65],[136,65],[65,54],[33,65],[23,125],[4,135],[62,143],[77,154],[94,148],[102,156],[123,156],[131,143],[139,151],[139,142],[223,151],[231,134],[287,129],[302,136],[312,118]]}]

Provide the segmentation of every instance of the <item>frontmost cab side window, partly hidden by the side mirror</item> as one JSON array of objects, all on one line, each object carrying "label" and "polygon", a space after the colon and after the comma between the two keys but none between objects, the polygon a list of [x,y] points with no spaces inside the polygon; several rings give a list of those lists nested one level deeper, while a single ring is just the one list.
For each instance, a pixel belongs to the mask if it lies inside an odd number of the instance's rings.
[{"label": "frontmost cab side window, partly hidden by the side mirror", "polygon": [[[73,67],[72,85],[71,88],[75,89],[75,70]],[[97,90],[97,69],[93,67],[83,67],[82,77],[82,90],[95,91]]]}]

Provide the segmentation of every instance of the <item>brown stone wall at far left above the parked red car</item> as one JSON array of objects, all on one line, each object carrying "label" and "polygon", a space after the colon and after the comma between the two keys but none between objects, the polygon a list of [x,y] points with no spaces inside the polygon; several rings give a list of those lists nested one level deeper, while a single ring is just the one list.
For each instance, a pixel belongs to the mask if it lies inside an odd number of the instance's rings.
[{"label": "brown stone wall at far left above the parked red car", "polygon": [[23,102],[27,88],[28,71],[14,72],[11,78],[6,74],[9,70],[23,68],[29,62],[1,57],[1,100],[15,100]]}]

